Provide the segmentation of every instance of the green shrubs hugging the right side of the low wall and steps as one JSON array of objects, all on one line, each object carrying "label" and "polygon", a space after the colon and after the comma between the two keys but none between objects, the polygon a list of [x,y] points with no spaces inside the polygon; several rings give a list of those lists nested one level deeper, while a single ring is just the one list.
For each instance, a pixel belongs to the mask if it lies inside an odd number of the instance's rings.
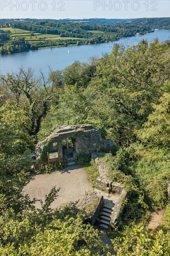
[{"label": "green shrubs hugging the right side of the low wall and steps", "polygon": [[[124,185],[127,192],[118,216],[119,228],[122,228],[122,225],[124,224],[127,225],[128,223],[141,218],[146,209],[148,209],[148,206],[145,203],[144,191],[140,188],[137,177],[127,174],[131,173],[131,168],[133,167],[135,159],[133,156],[134,154],[132,153],[131,155],[127,149],[120,149],[116,156],[109,153],[105,154],[103,158],[109,169],[108,176],[111,182],[120,182]],[[130,159],[129,162],[128,157]]]}]

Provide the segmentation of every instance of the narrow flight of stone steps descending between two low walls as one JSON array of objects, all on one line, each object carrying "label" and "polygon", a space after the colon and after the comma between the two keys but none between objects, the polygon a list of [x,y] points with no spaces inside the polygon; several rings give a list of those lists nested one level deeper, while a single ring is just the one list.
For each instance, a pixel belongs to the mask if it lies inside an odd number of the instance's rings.
[{"label": "narrow flight of stone steps descending between two low walls", "polygon": [[99,226],[104,229],[109,229],[111,221],[111,212],[113,211],[114,203],[104,199],[103,209],[101,210]]}]

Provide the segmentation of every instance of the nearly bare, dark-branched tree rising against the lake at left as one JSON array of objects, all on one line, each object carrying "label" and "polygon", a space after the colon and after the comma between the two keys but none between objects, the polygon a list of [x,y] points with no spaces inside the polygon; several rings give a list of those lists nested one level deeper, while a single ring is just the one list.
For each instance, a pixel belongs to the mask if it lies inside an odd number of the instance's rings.
[{"label": "nearly bare, dark-branched tree rising against the lake at left", "polygon": [[57,94],[57,90],[54,91],[56,81],[51,77],[46,78],[42,71],[40,74],[40,77],[35,78],[32,68],[27,71],[20,68],[18,74],[1,76],[1,85],[6,86],[17,104],[23,104],[23,109],[27,111],[31,120],[31,127],[28,128],[30,135],[36,135],[39,131],[41,119],[46,116],[52,98]]}]

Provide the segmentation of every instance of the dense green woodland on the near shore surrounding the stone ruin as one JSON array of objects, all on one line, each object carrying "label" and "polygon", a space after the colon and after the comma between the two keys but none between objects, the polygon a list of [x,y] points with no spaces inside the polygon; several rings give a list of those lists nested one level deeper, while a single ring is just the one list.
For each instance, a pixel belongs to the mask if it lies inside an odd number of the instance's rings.
[{"label": "dense green woodland on the near shore surrounding the stone ruin", "polygon": [[[115,45],[101,59],[53,68],[48,78],[20,68],[0,79],[0,255],[109,256],[114,249],[118,256],[169,256],[170,41],[148,46],[143,40],[127,50]],[[113,248],[83,223],[76,204],[50,209],[58,188],[41,209],[21,194],[38,141],[59,125],[81,123],[115,142],[104,161],[127,195],[109,233]],[[94,162],[88,168],[94,170]],[[161,209],[159,229],[145,229],[151,212]]]}]

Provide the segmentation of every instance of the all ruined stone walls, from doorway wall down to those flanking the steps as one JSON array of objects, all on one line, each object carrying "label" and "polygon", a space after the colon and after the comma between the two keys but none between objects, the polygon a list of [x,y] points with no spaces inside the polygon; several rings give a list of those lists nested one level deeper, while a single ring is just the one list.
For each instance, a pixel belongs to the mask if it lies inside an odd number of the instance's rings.
[{"label": "all ruined stone walls, from doorway wall down to those flanking the steps", "polygon": [[[53,138],[54,142],[58,143],[58,150],[60,157],[63,157],[63,149],[62,149],[62,140],[67,138],[72,138],[73,148],[76,154],[84,153],[84,154],[92,154],[92,158],[95,159],[95,162],[98,166],[98,170],[100,175],[96,179],[96,188],[109,192],[109,193],[118,193],[119,198],[116,203],[113,212],[111,213],[111,221],[110,225],[112,228],[115,228],[119,211],[121,209],[122,200],[126,195],[124,187],[118,182],[111,182],[108,175],[108,169],[105,166],[105,163],[102,159],[104,153],[110,152],[114,142],[111,140],[103,139],[101,137],[101,133],[98,129],[94,128],[90,124],[83,125],[72,125],[72,126],[61,126],[58,129],[54,130],[51,135],[47,136],[44,141],[41,141],[36,148],[36,158],[39,159],[42,149],[46,142]],[[96,153],[97,150],[101,150],[100,153]],[[73,154],[74,155],[74,154]],[[85,222],[90,222],[92,225],[96,222],[96,219],[99,216],[100,210],[103,205],[103,196],[98,197],[96,193],[91,192],[85,196],[82,208],[85,205],[88,205],[92,202],[92,199],[98,198],[98,206],[96,209],[92,210],[90,216],[85,219]]]}]

